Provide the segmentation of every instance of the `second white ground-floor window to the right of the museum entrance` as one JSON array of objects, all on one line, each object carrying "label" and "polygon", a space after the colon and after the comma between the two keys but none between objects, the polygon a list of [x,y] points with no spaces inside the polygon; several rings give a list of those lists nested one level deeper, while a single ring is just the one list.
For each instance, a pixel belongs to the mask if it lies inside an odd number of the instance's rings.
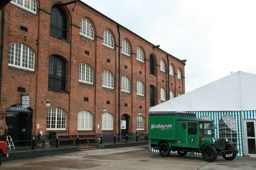
[{"label": "second white ground-floor window to the right of the museum entrance", "polygon": [[78,113],[77,116],[77,130],[92,130],[92,113],[83,110]]}]

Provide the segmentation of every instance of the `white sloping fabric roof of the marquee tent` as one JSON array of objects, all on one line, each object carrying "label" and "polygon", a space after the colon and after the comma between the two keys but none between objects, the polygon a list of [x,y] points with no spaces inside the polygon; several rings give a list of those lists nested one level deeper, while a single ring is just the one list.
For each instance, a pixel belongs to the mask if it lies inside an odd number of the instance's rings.
[{"label": "white sloping fabric roof of the marquee tent", "polygon": [[256,110],[256,74],[238,71],[176,98],[150,112]]}]

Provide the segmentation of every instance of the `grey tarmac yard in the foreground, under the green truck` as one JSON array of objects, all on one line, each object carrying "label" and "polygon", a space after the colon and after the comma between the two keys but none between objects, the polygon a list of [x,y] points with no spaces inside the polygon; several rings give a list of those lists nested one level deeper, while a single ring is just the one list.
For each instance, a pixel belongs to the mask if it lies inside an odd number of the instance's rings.
[{"label": "grey tarmac yard in the foreground, under the green truck", "polygon": [[227,161],[222,156],[206,162],[201,155],[179,156],[171,153],[162,158],[149,152],[148,145],[71,152],[54,156],[4,161],[1,170],[255,170],[256,158],[238,156]]}]

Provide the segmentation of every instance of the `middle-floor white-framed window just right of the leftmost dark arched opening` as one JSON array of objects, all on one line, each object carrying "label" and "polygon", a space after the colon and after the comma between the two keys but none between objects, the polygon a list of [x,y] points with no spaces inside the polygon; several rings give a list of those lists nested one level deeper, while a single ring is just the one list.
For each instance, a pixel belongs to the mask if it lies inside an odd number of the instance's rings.
[{"label": "middle-floor white-framed window just right of the leftmost dark arched opening", "polygon": [[80,82],[85,82],[93,84],[93,70],[88,64],[79,64],[79,80]]}]

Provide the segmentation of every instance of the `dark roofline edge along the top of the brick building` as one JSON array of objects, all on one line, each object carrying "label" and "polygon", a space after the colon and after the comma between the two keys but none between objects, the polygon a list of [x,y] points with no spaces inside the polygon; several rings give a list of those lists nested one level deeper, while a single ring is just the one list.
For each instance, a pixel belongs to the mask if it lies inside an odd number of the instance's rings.
[{"label": "dark roofline edge along the top of the brick building", "polygon": [[[132,32],[130,29],[128,29],[128,28],[126,28],[126,27],[124,27],[123,25],[119,24],[118,22],[116,22],[116,21],[112,20],[111,18],[109,18],[109,17],[105,16],[104,14],[102,14],[101,12],[99,12],[99,11],[95,10],[94,8],[92,8],[91,6],[87,5],[86,3],[82,2],[81,0],[78,0],[78,1],[79,1],[79,2],[81,2],[82,4],[84,4],[86,7],[88,7],[88,8],[90,8],[90,9],[94,10],[95,12],[98,12],[100,15],[102,15],[102,16],[103,16],[103,17],[105,17],[105,18],[107,18],[108,20],[110,20],[110,21],[112,21],[112,22],[116,23],[116,25],[120,25],[121,27],[123,27],[124,29],[126,29],[127,31],[129,31],[130,33],[133,33],[134,35],[136,35],[136,36],[138,36],[139,38],[143,39],[143,40],[144,40],[144,41],[146,41],[147,43],[150,43],[148,40],[146,40],[146,39],[144,39],[144,38],[140,37],[140,35],[138,35],[138,34],[136,34],[136,33]],[[152,47],[154,46],[154,44],[152,44],[152,43],[150,43],[150,44],[152,45]],[[159,49],[160,51],[162,51],[162,52],[166,53],[167,55],[169,55],[169,56],[173,57],[174,59],[176,59],[176,60],[180,61],[181,63],[183,63],[183,64],[184,64],[184,66],[186,65],[186,63],[185,63],[185,62],[186,62],[186,60],[180,60],[180,59],[178,59],[177,57],[174,57],[173,55],[170,55],[170,54],[169,54],[169,53],[167,53],[166,51],[164,51],[164,50],[162,50],[162,49],[160,49],[160,48],[158,48],[158,49]],[[185,61],[185,62],[184,62],[184,61]]]}]

